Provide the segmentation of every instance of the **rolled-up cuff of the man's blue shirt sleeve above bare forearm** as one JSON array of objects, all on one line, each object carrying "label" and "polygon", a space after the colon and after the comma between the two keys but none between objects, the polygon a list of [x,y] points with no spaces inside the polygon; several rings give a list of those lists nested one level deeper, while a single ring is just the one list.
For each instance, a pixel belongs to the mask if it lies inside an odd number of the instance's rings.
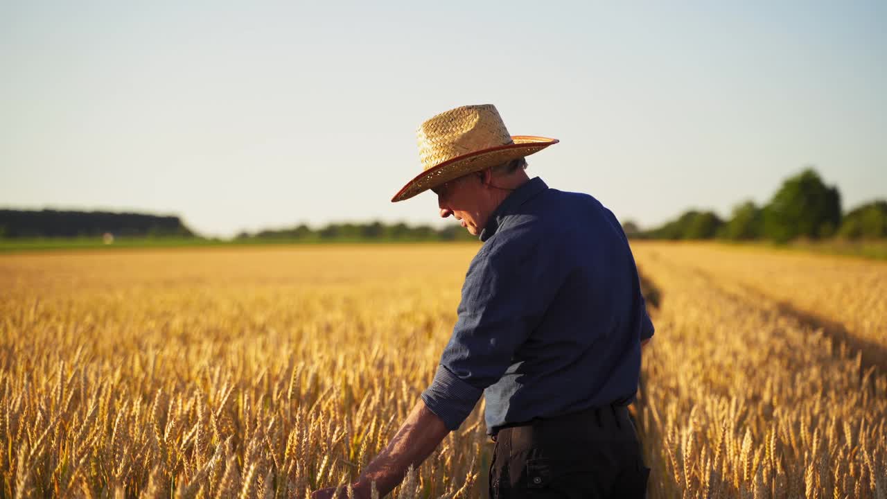
[{"label": "rolled-up cuff of the man's blue shirt sleeve above bare forearm", "polygon": [[471,414],[483,390],[462,381],[443,365],[437,366],[435,379],[422,392],[428,409],[441,418],[447,430],[453,431]]}]

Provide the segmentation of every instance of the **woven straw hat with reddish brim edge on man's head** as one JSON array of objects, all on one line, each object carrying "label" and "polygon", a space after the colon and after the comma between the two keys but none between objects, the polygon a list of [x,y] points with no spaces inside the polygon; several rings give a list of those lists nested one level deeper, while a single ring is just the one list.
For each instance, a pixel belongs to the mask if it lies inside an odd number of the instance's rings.
[{"label": "woven straw hat with reddish brim edge on man's head", "polygon": [[472,171],[538,153],[557,139],[509,135],[492,104],[456,107],[422,123],[419,158],[422,172],[406,183],[391,202],[443,185]]}]

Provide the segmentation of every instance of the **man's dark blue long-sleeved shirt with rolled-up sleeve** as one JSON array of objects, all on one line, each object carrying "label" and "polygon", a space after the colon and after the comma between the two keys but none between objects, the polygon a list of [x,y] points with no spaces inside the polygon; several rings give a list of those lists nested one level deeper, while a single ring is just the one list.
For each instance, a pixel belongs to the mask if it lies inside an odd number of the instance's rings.
[{"label": "man's dark blue long-sleeved shirt with rolled-up sleeve", "polygon": [[653,336],[628,240],[588,194],[533,178],[491,214],[459,319],[422,400],[450,430],[486,397],[487,432],[634,400]]}]

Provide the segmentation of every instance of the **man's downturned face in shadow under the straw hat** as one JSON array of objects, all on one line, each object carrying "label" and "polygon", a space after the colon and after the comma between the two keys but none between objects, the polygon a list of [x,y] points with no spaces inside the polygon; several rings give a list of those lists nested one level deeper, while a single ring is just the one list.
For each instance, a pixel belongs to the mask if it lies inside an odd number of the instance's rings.
[{"label": "man's downturned face in shadow under the straw hat", "polygon": [[483,173],[469,173],[431,190],[437,194],[442,218],[452,215],[469,233],[481,234],[490,216],[490,211],[485,209],[488,193],[483,188]]}]

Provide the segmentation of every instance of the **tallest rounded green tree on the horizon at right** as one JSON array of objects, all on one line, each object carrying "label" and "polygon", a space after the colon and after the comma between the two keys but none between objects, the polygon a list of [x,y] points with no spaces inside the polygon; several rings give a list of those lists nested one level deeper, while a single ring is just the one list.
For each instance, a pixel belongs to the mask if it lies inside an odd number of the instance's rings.
[{"label": "tallest rounded green tree on the horizon at right", "polygon": [[841,194],[807,168],[782,183],[764,209],[764,235],[776,242],[833,235],[841,223]]}]

